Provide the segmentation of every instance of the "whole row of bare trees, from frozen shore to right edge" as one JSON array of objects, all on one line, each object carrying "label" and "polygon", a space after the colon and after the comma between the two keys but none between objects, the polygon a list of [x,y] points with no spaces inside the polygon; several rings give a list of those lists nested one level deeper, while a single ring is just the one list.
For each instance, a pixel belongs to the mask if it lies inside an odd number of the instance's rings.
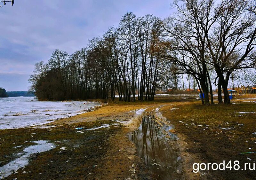
[{"label": "whole row of bare trees, from frozen shore to right edge", "polygon": [[49,100],[154,100],[156,90],[179,89],[186,75],[204,93],[202,104],[213,104],[212,83],[219,103],[223,90],[229,104],[230,76],[256,67],[255,1],[175,0],[172,6],[177,11],[164,20],[127,12],[118,27],[71,55],[55,50],[48,63],[36,63],[31,91]]}]

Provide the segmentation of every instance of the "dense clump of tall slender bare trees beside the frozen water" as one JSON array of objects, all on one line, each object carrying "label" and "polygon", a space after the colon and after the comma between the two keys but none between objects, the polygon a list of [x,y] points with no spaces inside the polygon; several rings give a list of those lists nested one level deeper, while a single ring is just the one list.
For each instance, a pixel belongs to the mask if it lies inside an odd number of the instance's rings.
[{"label": "dense clump of tall slender bare trees beside the frozen water", "polygon": [[48,63],[36,63],[29,81],[40,99],[88,99],[117,94],[121,101],[153,100],[164,61],[161,20],[153,15],[136,18],[127,12],[117,28],[93,38],[87,47],[68,55],[55,50]]}]

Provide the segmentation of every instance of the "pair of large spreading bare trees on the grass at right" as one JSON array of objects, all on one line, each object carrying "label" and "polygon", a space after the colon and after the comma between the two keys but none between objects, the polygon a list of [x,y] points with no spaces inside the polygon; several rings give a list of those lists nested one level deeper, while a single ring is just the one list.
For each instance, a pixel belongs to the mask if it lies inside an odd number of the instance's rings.
[{"label": "pair of large spreading bare trees on the grass at right", "polygon": [[250,0],[184,0],[174,1],[177,12],[164,20],[168,40],[162,46],[163,57],[172,59],[181,74],[196,79],[204,93],[202,104],[211,103],[214,71],[218,85],[218,100],[229,104],[228,82],[237,69],[255,67],[256,11],[255,1]]}]

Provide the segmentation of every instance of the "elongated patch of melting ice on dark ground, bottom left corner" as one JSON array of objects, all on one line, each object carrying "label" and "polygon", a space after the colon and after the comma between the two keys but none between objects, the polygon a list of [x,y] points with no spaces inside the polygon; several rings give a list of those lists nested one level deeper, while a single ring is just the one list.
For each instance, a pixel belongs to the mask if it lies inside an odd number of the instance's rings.
[{"label": "elongated patch of melting ice on dark ground, bottom left corner", "polygon": [[21,154],[21,157],[9,162],[8,164],[0,167],[0,179],[11,175],[18,169],[23,168],[29,164],[29,157],[34,153],[42,153],[49,151],[56,146],[48,141],[33,141],[36,145],[26,147]]}]

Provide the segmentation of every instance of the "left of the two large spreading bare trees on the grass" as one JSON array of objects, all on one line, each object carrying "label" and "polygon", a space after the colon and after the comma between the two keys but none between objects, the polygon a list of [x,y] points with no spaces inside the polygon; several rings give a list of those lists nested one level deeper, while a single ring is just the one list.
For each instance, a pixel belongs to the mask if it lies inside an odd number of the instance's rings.
[{"label": "left of the two large spreading bare trees on the grass", "polygon": [[[212,87],[207,64],[207,36],[204,26],[211,26],[209,9],[213,0],[182,0],[172,4],[177,12],[164,20],[163,28],[167,42],[163,57],[176,63],[181,73],[192,75],[198,84],[200,93],[204,93],[202,103],[209,102],[209,89],[212,97]],[[202,26],[204,25],[204,26]],[[203,96],[202,96],[203,97]],[[213,98],[211,98],[213,103]]]}]

